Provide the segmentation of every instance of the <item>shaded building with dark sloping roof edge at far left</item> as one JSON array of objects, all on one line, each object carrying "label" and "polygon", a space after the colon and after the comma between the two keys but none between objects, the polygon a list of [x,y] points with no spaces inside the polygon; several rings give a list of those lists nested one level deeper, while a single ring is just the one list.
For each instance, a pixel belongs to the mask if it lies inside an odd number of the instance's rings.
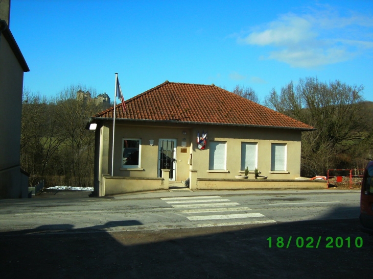
[{"label": "shaded building with dark sloping roof edge at far left", "polygon": [[28,174],[20,168],[19,152],[23,80],[29,70],[8,21],[0,18],[0,198],[28,195]]}]

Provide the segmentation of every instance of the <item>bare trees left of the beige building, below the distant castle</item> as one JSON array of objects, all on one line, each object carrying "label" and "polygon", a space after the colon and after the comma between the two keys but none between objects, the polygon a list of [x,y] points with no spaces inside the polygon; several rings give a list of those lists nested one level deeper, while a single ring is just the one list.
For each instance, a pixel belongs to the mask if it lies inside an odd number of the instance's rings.
[{"label": "bare trees left of the beige building, below the distant castle", "polygon": [[20,162],[30,174],[30,185],[41,179],[47,187],[93,185],[95,135],[85,124],[103,109],[97,102],[78,99],[82,89],[96,95],[95,89],[81,85],[50,99],[24,91]]}]

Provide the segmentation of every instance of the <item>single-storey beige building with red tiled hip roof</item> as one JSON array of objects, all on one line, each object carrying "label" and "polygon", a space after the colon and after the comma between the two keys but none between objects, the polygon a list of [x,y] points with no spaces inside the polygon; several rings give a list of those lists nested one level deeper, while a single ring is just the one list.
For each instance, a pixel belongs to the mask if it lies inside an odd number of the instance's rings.
[{"label": "single-storey beige building with red tiled hip roof", "polygon": [[[113,151],[114,109],[87,124],[97,124],[98,196],[168,189],[169,181],[187,179],[191,189],[293,185],[301,132],[314,130],[215,85],[166,81],[125,103],[125,110],[115,108]],[[237,179],[246,167],[248,179]],[[255,168],[268,179],[255,180]]]}]

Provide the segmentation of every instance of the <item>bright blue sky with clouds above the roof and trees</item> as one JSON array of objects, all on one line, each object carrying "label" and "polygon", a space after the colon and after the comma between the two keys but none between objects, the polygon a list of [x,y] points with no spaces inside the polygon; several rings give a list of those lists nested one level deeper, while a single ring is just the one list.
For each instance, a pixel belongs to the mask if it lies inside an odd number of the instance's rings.
[{"label": "bright blue sky with clouds above the roof and trees", "polygon": [[[318,77],[373,101],[373,1],[11,0],[24,87],[78,83],[126,99],[165,82],[272,88]],[[201,96],[203,97],[203,96]],[[206,100],[207,101],[207,100]]]}]

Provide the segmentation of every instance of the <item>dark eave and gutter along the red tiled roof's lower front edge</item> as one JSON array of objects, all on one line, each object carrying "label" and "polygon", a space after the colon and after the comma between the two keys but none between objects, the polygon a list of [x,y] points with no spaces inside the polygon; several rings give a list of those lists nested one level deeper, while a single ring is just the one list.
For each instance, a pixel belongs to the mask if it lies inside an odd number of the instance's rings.
[{"label": "dark eave and gutter along the red tiled roof's lower front edge", "polygon": [[[99,121],[113,120],[112,117],[90,117],[88,120],[87,127],[89,128],[90,123]],[[128,118],[115,118],[116,121],[129,121],[129,122],[151,122],[151,123],[175,123],[175,124],[194,124],[194,125],[220,125],[220,126],[239,126],[245,128],[270,128],[270,129],[288,129],[288,130],[300,130],[300,131],[316,131],[315,128],[301,128],[301,127],[287,127],[287,126],[267,126],[267,125],[250,125],[250,124],[235,124],[235,123],[212,123],[212,122],[195,122],[195,121],[178,121],[178,120],[152,120],[152,119],[128,119]]]}]

